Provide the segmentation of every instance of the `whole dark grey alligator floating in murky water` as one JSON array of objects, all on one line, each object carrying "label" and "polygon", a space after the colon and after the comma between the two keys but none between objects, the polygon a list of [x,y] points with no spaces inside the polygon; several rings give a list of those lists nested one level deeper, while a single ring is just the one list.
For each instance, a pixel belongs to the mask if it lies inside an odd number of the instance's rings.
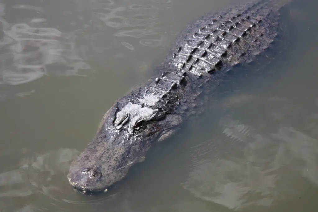
[{"label": "whole dark grey alligator floating in murky water", "polygon": [[[68,173],[79,192],[107,191],[141,162],[155,142],[175,134],[228,71],[277,48],[281,9],[290,0],[257,0],[204,15],[186,27],[158,75],[114,102]],[[280,38],[280,39],[279,39]],[[203,97],[202,97],[203,96]]]}]

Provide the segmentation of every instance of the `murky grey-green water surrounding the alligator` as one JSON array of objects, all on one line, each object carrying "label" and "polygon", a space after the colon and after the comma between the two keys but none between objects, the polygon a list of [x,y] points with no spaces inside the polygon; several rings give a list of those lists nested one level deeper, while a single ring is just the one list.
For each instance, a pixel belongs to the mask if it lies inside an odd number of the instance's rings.
[{"label": "murky grey-green water surrounding the alligator", "polygon": [[317,211],[317,3],[289,43],[220,86],[207,110],[105,195],[68,185],[102,115],[153,74],[176,34],[234,1],[1,0],[0,211]]}]

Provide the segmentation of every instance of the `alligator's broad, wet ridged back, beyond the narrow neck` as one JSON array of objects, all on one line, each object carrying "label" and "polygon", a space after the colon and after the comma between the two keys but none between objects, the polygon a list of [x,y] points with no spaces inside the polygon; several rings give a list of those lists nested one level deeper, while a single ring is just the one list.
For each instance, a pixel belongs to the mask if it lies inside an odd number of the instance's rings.
[{"label": "alligator's broad, wet ridged back, beyond the narrow neck", "polygon": [[201,76],[247,64],[280,34],[280,8],[289,0],[260,0],[208,14],[188,25],[169,65]]}]

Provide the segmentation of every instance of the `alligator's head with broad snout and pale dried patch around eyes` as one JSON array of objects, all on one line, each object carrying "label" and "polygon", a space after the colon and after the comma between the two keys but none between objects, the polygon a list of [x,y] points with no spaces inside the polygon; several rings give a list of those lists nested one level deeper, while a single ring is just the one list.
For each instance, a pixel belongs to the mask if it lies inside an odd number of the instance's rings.
[{"label": "alligator's head with broad snout and pale dried patch around eyes", "polygon": [[[121,100],[122,101],[122,100]],[[104,115],[88,147],[70,167],[68,180],[79,191],[107,191],[128,173],[156,140],[179,127],[178,115],[130,102],[115,103]]]}]

